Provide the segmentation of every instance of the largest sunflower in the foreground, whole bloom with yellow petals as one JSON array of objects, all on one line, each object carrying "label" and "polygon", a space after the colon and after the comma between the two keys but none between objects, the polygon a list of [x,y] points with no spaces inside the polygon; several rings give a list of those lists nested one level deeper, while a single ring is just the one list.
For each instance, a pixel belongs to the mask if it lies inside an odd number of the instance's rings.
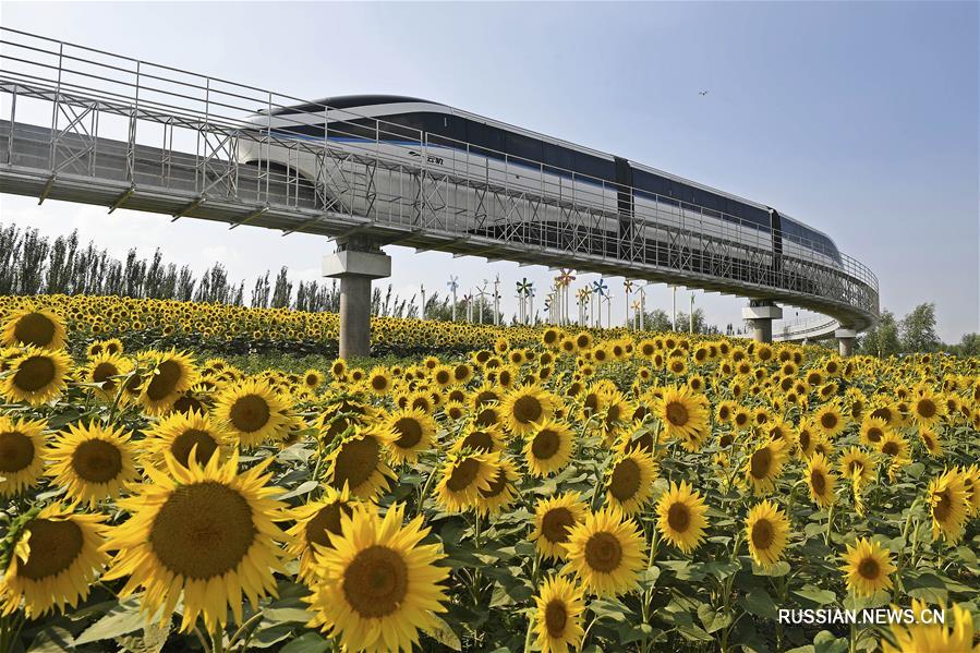
[{"label": "largest sunflower in the foreground, whole bloom with yellow petals", "polygon": [[184,468],[168,456],[169,474],[147,468],[153,482],[119,501],[131,516],[109,533],[105,548],[118,553],[105,578],[129,577],[120,596],[143,588],[143,613],[162,608],[161,624],[183,593],[182,632],[198,615],[208,631],[223,628],[228,607],[241,624],[242,593],[257,610],[261,596],[276,594],[273,573],[286,572],[278,543],[288,537],[274,523],[285,504],[271,498],[281,489],[263,473],[273,460],[241,473],[237,451],[223,464],[214,456]]}]

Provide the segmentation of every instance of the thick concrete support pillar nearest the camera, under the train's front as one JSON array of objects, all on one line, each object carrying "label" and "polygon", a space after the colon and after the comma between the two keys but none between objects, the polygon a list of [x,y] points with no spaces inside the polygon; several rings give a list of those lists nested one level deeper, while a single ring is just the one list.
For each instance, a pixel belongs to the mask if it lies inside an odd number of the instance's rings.
[{"label": "thick concrete support pillar nearest the camera, under the train's front", "polygon": [[340,279],[340,356],[344,359],[371,353],[371,281],[391,276],[390,256],[370,244],[360,243],[360,247],[340,243],[323,263],[325,277]]}]

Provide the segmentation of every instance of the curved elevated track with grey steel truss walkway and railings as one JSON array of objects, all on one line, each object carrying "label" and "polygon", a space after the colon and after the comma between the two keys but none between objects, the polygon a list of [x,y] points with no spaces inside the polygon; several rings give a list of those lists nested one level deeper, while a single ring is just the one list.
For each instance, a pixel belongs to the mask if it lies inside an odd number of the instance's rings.
[{"label": "curved elevated track with grey steel truss walkway and railings", "polygon": [[[390,125],[380,121],[376,138],[360,134],[354,143],[334,138],[342,123],[332,117],[316,140],[249,122],[258,110],[298,104],[0,28],[0,192],[713,290],[827,315],[821,335],[878,319],[878,279],[864,265],[843,254],[839,265],[816,254],[774,256],[771,234],[737,218],[719,230],[709,225],[717,220],[705,222],[709,209],[665,201],[650,215],[630,208],[624,229],[622,189],[590,180],[603,188],[582,193],[580,184],[549,181],[541,162],[500,154],[495,165],[520,174],[500,182],[468,144],[455,144],[462,154],[448,170],[429,161],[446,144],[425,133],[383,152]],[[240,164],[246,147],[275,147],[297,164]],[[301,160],[314,161],[312,178],[297,171]],[[813,334],[811,324],[777,338]]]}]

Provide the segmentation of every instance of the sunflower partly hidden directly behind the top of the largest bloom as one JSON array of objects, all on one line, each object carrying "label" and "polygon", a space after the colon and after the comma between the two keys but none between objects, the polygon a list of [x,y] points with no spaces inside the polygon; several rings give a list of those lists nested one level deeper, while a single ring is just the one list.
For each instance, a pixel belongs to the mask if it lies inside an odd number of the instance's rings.
[{"label": "sunflower partly hidden directly behind the top of the largest bloom", "polygon": [[[206,464],[211,456],[223,459],[230,448],[230,437],[207,413],[192,411],[174,412],[164,418],[144,434],[145,460],[164,469],[169,454],[174,460],[187,467],[191,451],[197,464]],[[195,448],[196,447],[196,448]]]}]

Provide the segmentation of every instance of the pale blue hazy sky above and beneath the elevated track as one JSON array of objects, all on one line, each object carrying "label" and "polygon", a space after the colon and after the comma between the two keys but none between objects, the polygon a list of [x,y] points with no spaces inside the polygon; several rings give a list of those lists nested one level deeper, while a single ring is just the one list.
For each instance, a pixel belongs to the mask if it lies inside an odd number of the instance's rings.
[{"label": "pale blue hazy sky above and beneath the elevated track", "polygon": [[[830,233],[878,274],[883,307],[900,315],[934,301],[946,340],[980,330],[977,3],[3,2],[0,11],[7,26],[298,97],[414,95],[616,153]],[[198,269],[221,259],[247,279],[281,265],[314,278],[331,249],[302,234],[12,196],[0,213],[50,234],[77,227],[118,254],[159,244]],[[511,288],[552,276],[389,250],[402,294],[445,288],[450,268],[463,288],[495,274]],[[613,287],[621,319],[619,280]],[[665,287],[648,300],[669,312]],[[695,302],[711,322],[740,321],[740,300],[699,291]]]}]

